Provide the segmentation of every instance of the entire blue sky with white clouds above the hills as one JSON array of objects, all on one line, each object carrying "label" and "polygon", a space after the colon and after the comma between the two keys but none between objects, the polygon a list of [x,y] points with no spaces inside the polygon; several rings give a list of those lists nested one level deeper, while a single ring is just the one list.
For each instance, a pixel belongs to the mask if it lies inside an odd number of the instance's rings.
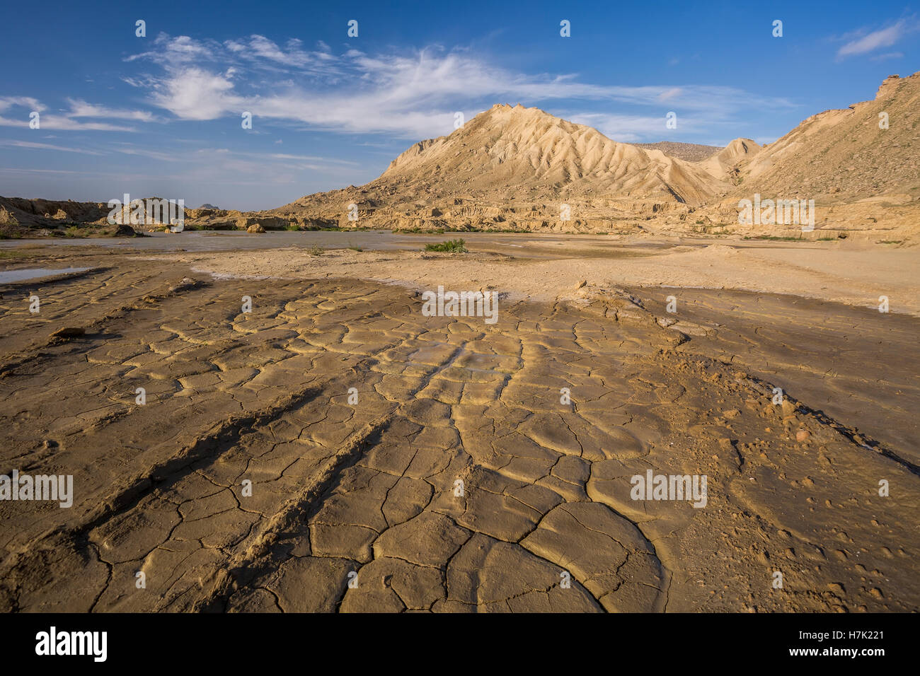
[{"label": "entire blue sky with white clouds above the hills", "polygon": [[627,143],[768,143],[920,70],[920,12],[884,0],[33,2],[4,15],[0,195],[55,200],[268,209],[372,180],[452,132],[455,112],[495,103]]}]

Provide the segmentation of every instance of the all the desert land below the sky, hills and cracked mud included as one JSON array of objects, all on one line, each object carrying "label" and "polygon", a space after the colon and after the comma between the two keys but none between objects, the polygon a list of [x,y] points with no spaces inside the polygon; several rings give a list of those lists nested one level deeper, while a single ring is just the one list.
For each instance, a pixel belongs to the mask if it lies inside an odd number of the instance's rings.
[{"label": "all the desert land below the sky, hills and cracked mud included", "polygon": [[918,97],[724,147],[496,103],[257,212],[0,197],[0,608],[916,612]]}]

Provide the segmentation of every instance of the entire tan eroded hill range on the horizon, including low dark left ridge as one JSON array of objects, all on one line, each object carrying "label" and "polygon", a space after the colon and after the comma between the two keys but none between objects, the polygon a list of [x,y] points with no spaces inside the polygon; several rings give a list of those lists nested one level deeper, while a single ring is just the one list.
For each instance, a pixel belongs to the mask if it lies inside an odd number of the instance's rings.
[{"label": "entire tan eroded hill range on the horizon, including low dark left ridge", "polygon": [[[618,143],[543,110],[499,104],[447,136],[420,141],[370,183],[306,195],[266,212],[209,204],[190,228],[797,235],[799,224],[743,226],[738,203],[814,200],[812,236],[895,241],[920,223],[920,73],[892,75],[875,99],[825,110],[761,147]],[[888,128],[880,125],[887,120]],[[0,235],[105,225],[103,204],[0,198]],[[351,215],[351,218],[350,218]],[[355,220],[357,217],[357,220]],[[820,224],[818,224],[820,223]]]}]

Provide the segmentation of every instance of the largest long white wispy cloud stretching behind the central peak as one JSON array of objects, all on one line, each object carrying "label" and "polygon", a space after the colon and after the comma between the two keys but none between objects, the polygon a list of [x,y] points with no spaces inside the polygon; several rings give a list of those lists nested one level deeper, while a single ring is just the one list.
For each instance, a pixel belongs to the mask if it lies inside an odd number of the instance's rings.
[{"label": "largest long white wispy cloud stretching behind the central peak", "polygon": [[[158,51],[130,59],[146,59],[163,72],[132,84],[147,88],[151,104],[179,120],[238,117],[247,111],[257,120],[295,127],[420,139],[452,132],[454,111],[473,114],[498,102],[546,106],[564,101],[569,109],[577,101],[591,104],[588,108],[615,103],[662,115],[666,105],[712,119],[747,106],[792,106],[787,99],[727,86],[607,86],[580,82],[576,74],[516,73],[464,50],[440,47],[334,55],[326,49],[305,51],[299,40],[282,49],[258,35],[224,43],[165,35],[156,41]],[[250,72],[276,66],[283,77]]]}]

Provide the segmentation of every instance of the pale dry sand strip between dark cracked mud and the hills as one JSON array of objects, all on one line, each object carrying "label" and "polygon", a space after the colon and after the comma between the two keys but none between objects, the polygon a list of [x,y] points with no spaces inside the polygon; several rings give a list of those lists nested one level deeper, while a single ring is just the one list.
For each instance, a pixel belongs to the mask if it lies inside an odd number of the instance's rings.
[{"label": "pale dry sand strip between dark cracked mud and the hills", "polygon": [[[169,259],[218,274],[352,277],[416,289],[438,284],[464,289],[488,286],[510,293],[514,299],[545,302],[566,297],[580,281],[595,287],[674,286],[787,293],[875,308],[884,295],[891,312],[920,314],[920,254],[915,248],[824,242],[685,244],[686,240],[677,238],[637,237],[601,245],[596,238],[516,236],[520,237],[518,244],[502,246],[479,246],[475,240],[469,241],[474,254],[493,255],[462,258],[420,251],[359,252],[344,248],[323,256],[305,256],[302,248],[291,247],[256,256],[222,252]],[[508,255],[513,246],[521,247],[517,256]],[[538,256],[553,258],[531,258]]]}]

